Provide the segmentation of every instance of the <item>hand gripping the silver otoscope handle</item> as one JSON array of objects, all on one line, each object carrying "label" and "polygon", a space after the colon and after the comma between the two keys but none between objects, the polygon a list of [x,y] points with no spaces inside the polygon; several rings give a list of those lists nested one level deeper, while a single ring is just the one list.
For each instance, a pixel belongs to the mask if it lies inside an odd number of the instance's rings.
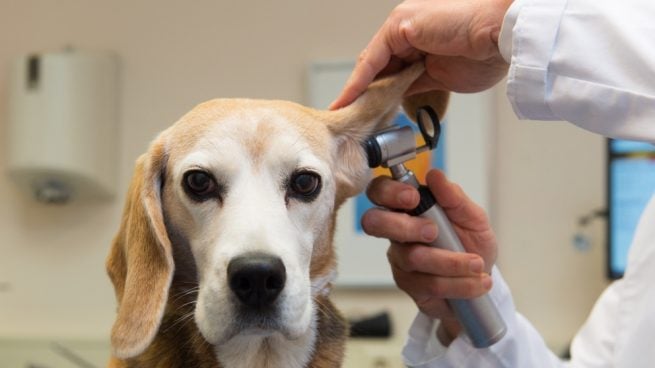
[{"label": "hand gripping the silver otoscope handle", "polygon": [[[396,284],[424,314],[441,321],[438,336],[448,345],[461,326],[445,299],[474,298],[489,291],[496,236],[484,210],[442,172],[431,170],[426,181],[468,253],[425,246],[438,229],[422,217],[374,208],[364,214],[362,226],[369,235],[391,240],[387,257]],[[389,177],[374,179],[367,195],[373,203],[393,209],[413,209],[419,201],[416,189]]]}]

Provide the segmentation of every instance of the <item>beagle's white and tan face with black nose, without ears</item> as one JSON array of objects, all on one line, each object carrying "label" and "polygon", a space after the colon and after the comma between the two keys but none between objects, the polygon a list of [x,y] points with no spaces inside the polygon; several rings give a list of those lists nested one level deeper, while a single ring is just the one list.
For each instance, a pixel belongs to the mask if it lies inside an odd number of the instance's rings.
[{"label": "beagle's white and tan face with black nose, without ears", "polygon": [[332,275],[332,138],[311,110],[251,100],[205,103],[166,133],[164,218],[193,257],[210,343],[309,328],[312,292]]}]

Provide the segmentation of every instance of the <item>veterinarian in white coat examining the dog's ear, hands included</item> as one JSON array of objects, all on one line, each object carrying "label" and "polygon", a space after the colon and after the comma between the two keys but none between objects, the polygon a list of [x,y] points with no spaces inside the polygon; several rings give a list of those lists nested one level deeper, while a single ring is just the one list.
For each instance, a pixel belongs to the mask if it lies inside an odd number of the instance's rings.
[{"label": "veterinarian in white coat examining the dog's ear, hands included", "polygon": [[[350,103],[380,73],[424,59],[428,71],[408,93],[477,92],[507,75],[507,95],[520,118],[566,120],[609,137],[655,142],[654,18],[653,0],[408,0],[362,52],[333,108]],[[427,182],[463,231],[464,245],[490,272],[496,242],[484,213],[442,174],[431,172]],[[374,181],[369,196],[390,208],[418,202],[416,192],[388,179]],[[376,209],[362,221],[369,234],[391,239],[395,280],[421,311],[403,352],[408,365],[564,365],[515,311],[495,269],[490,295],[508,333],[489,349],[473,348],[441,298],[483,293],[489,279],[480,259],[412,245],[435,236],[420,218]],[[655,366],[655,199],[630,252],[624,278],[597,301],[573,340],[567,366]],[[426,292],[435,289],[439,293]]]}]

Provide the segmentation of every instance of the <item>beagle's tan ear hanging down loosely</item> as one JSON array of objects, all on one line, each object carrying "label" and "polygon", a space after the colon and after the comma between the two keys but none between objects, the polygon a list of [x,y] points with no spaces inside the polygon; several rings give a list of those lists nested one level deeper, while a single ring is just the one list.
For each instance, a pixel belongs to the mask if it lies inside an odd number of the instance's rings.
[{"label": "beagle's tan ear hanging down loosely", "polygon": [[173,275],[160,199],[165,166],[161,141],[137,161],[121,226],[106,263],[118,300],[111,332],[113,354],[118,358],[134,357],[152,342]]}]

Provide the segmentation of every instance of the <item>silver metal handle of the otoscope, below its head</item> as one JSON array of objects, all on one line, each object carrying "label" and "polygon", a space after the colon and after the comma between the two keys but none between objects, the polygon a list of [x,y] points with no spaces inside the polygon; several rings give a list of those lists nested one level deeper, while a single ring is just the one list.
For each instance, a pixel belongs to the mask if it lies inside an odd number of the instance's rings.
[{"label": "silver metal handle of the otoscope, below its head", "polygon": [[[453,252],[466,252],[448,217],[439,207],[430,190],[420,186],[411,171],[403,171],[402,175],[398,176],[401,173],[392,170],[394,178],[413,185],[421,195],[419,206],[408,213],[428,218],[439,228],[437,239],[429,245]],[[473,299],[448,299],[447,302],[476,348],[489,347],[505,335],[507,331],[505,322],[488,294]]]}]

